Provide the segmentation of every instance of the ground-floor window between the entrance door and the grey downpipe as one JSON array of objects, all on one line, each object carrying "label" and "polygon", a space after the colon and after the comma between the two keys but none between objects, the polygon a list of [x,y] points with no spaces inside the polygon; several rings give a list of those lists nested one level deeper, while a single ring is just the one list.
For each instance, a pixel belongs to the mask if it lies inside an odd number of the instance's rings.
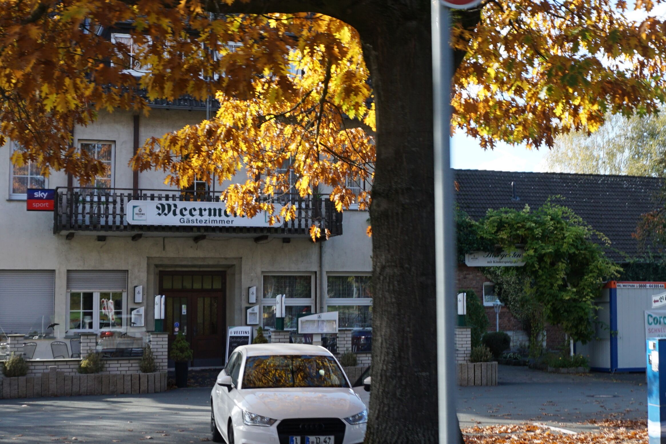
[{"label": "ground-floor window between the entrance door and the grey downpipe", "polygon": [[275,328],[275,297],[284,294],[285,330],[296,329],[298,314],[312,313],[313,274],[266,274],[263,277],[262,314],[264,328]]}]

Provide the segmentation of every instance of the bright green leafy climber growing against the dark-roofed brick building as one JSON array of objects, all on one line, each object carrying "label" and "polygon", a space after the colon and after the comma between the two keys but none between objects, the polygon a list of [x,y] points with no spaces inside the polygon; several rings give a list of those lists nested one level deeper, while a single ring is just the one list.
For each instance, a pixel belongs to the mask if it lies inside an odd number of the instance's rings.
[{"label": "bright green leafy climber growing against the dark-roofed brick building", "polygon": [[501,248],[524,250],[524,266],[493,273],[511,311],[531,322],[531,345],[537,345],[543,322],[561,327],[574,341],[591,339],[594,299],[603,281],[621,270],[600,245],[609,240],[551,200],[536,210],[489,210],[480,223],[484,236]]}]

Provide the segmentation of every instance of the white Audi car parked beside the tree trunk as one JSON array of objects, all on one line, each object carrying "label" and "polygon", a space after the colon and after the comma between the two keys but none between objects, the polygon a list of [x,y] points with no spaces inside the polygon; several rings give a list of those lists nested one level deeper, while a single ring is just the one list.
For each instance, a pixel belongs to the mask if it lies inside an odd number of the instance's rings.
[{"label": "white Audi car parked beside the tree trunk", "polygon": [[360,444],[368,411],[324,347],[242,345],[210,393],[212,441]]}]

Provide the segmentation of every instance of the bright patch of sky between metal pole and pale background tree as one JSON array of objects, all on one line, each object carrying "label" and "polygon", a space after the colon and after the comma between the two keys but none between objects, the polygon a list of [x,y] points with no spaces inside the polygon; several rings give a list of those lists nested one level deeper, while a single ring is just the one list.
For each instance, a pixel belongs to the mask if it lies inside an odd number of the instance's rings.
[{"label": "bright patch of sky between metal pole and pale background tree", "polygon": [[528,150],[525,146],[498,144],[494,150],[484,150],[465,134],[451,138],[451,166],[466,170],[544,172],[546,150]]}]

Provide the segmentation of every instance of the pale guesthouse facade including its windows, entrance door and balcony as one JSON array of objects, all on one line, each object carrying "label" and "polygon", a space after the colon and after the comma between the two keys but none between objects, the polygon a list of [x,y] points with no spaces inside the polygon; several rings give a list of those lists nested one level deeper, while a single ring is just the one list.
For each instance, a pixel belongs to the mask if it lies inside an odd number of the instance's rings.
[{"label": "pale guesthouse facade including its windows, entrance door and balcony", "polygon": [[[129,166],[147,138],[205,117],[200,103],[178,101],[153,108],[148,117],[102,112],[94,124],[75,128],[75,146],[108,165],[92,188],[80,188],[64,172],[44,178],[32,165],[15,166],[10,161],[15,146],[3,146],[0,333],[66,341],[94,332],[115,339],[117,346],[153,331],[153,299],[163,294],[163,329],[170,337],[186,335],[194,350],[192,365],[222,365],[227,329],[248,325],[248,309],[255,306],[258,324],[250,320],[250,325],[274,329],[275,296],[284,294],[285,330],[296,328],[298,314],[338,311],[340,328],[352,337],[340,341],[338,354],[346,351],[343,343],[354,351],[369,351],[368,212],[346,210],[343,218],[323,196],[299,201],[301,210],[287,226],[251,226],[238,218],[216,226],[180,224],[177,217],[168,225],[128,222],[130,201],[188,208],[218,202],[217,184],[178,190],[164,184],[164,172],[136,173]],[[28,212],[27,188],[55,190],[54,212]],[[312,242],[312,223],[333,236]],[[139,290],[141,297],[135,295]],[[51,324],[57,325],[49,328]],[[361,339],[355,342],[357,336]],[[331,344],[335,346],[333,337]]]}]

